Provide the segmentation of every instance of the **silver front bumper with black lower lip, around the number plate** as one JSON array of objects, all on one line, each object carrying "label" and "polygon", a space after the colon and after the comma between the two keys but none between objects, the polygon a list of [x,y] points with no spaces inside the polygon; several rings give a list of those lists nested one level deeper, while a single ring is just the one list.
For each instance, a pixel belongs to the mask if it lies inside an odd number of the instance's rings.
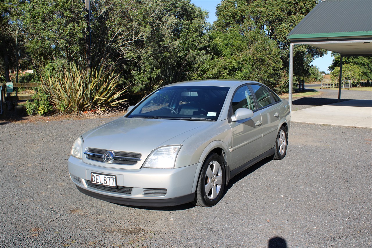
[{"label": "silver front bumper with black lower lip, around the number plate", "polygon": [[[175,206],[193,201],[197,166],[128,170],[90,165],[73,156],[68,159],[68,172],[79,191],[101,200],[134,206]],[[91,172],[116,175],[118,188],[92,184]]]}]

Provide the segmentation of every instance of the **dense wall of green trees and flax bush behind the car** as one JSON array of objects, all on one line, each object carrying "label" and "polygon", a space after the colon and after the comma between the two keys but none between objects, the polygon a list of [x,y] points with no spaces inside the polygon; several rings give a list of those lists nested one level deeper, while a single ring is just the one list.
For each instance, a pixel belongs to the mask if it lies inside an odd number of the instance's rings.
[{"label": "dense wall of green trees and flax bush behind the car", "polygon": [[[19,64],[34,65],[39,74],[33,80],[50,77],[43,87],[64,113],[119,107],[113,102],[122,99],[120,87],[146,94],[189,79],[257,80],[282,92],[288,79],[286,35],[317,1],[222,0],[212,28],[207,12],[189,0],[91,0],[96,69],[85,75],[88,29],[82,1],[3,0],[0,80]],[[311,61],[321,55],[318,48],[296,46],[295,75],[309,76]]]}]

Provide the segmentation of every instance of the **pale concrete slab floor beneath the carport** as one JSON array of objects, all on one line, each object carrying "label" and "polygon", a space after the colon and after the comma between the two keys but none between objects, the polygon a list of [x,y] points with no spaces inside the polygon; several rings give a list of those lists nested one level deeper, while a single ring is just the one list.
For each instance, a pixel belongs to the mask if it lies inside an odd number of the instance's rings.
[{"label": "pale concrete slab floor beneath the carport", "polygon": [[372,100],[350,100],[293,111],[291,121],[372,128]]}]

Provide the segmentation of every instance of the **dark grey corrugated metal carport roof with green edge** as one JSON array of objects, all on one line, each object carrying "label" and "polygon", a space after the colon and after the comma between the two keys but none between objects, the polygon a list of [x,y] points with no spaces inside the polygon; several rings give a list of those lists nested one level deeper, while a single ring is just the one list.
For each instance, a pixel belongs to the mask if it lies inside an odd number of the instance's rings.
[{"label": "dark grey corrugated metal carport roof with green edge", "polygon": [[323,0],[288,38],[372,35],[372,0]]}]

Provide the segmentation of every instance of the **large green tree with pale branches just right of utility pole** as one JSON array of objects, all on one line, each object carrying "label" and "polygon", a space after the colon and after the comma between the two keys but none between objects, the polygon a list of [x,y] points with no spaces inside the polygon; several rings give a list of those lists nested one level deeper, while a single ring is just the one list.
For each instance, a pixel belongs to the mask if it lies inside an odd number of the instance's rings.
[{"label": "large green tree with pale branches just right of utility pole", "polygon": [[92,54],[112,63],[132,92],[186,80],[207,57],[207,13],[187,0],[96,1],[93,7]]}]

